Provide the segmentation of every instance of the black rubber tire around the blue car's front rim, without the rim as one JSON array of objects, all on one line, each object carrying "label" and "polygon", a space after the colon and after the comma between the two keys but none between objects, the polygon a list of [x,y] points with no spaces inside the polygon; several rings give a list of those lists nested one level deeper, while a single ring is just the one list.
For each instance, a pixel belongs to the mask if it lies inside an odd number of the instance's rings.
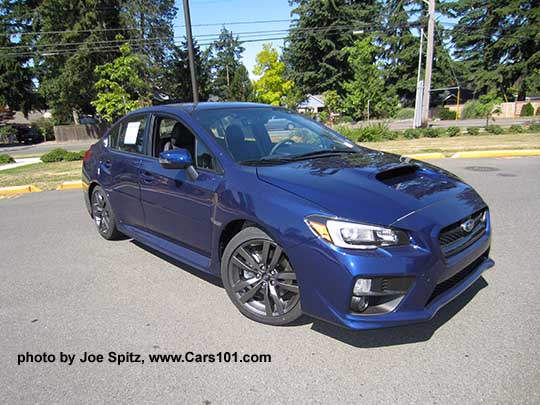
[{"label": "black rubber tire around the blue car's front rim, without the rim", "polygon": [[232,254],[234,253],[236,248],[238,248],[238,246],[242,245],[243,243],[248,242],[250,240],[260,240],[260,239],[266,239],[274,243],[277,243],[266,232],[255,227],[249,227],[249,228],[243,229],[230,240],[230,242],[225,247],[223,256],[221,258],[221,279],[223,282],[223,286],[225,287],[225,291],[227,292],[227,295],[229,296],[230,300],[238,308],[238,310],[247,318],[254,320],[256,322],[266,323],[269,325],[287,325],[291,322],[294,322],[295,320],[297,320],[298,318],[302,316],[302,307],[300,305],[301,299],[299,299],[298,303],[294,306],[294,308],[290,310],[289,312],[287,312],[285,315],[280,316],[280,317],[269,318],[269,317],[259,316],[249,311],[248,309],[246,309],[240,302],[238,302],[236,298],[236,294],[232,290],[232,283],[229,276],[229,262],[231,260]]}]

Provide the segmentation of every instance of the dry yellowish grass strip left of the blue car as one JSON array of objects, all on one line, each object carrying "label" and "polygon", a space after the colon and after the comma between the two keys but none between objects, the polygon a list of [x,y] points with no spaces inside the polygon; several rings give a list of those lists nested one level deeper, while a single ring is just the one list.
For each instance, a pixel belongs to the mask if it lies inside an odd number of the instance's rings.
[{"label": "dry yellowish grass strip left of the blue car", "polygon": [[35,163],[0,171],[0,187],[33,184],[42,190],[54,190],[63,181],[81,179],[82,161]]}]

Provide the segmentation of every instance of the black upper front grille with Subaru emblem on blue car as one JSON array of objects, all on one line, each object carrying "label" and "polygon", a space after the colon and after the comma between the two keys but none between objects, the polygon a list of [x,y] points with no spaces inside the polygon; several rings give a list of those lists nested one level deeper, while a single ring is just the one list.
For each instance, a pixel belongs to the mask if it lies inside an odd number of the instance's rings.
[{"label": "black upper front grille with Subaru emblem on blue car", "polygon": [[[487,208],[484,208],[441,230],[439,243],[445,258],[465,250],[486,233],[486,211]],[[473,221],[473,228],[467,232],[463,229],[463,224],[469,219]]]}]

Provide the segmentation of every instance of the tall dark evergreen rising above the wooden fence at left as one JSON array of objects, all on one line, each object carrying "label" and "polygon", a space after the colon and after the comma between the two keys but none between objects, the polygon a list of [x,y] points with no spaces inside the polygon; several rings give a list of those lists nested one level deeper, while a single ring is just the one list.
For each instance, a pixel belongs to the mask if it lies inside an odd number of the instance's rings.
[{"label": "tall dark evergreen rising above the wooden fence at left", "polygon": [[95,113],[95,67],[118,55],[120,2],[50,0],[39,2],[34,15],[32,31],[49,32],[33,36],[38,92],[56,122],[78,123],[79,114]]}]

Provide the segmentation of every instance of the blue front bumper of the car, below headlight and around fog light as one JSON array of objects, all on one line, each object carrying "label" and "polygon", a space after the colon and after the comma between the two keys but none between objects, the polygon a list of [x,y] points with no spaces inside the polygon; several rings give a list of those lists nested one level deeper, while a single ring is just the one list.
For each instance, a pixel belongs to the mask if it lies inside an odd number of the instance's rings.
[{"label": "blue front bumper of the car, below headlight and around fog light", "polygon": [[[292,249],[289,259],[297,273],[304,313],[362,330],[433,318],[494,265],[489,258],[490,244],[488,225],[485,235],[449,258],[443,257],[435,240],[427,244],[352,251],[316,238]],[[351,294],[356,280],[381,276],[414,277],[414,282],[391,312],[362,315],[351,311]]]}]

